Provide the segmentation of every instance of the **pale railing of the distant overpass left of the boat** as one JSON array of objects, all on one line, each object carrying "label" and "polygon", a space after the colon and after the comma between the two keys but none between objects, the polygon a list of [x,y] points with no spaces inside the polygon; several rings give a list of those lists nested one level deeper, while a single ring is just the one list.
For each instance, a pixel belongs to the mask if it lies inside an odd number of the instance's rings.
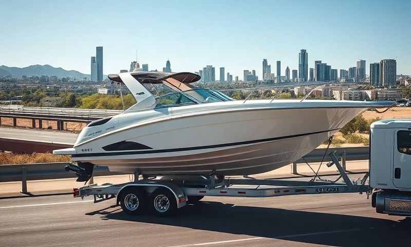
[{"label": "pale railing of the distant overpass left of the boat", "polygon": [[80,118],[104,118],[122,113],[119,110],[54,108],[54,107],[22,107],[15,105],[0,105],[0,114],[25,115],[25,116],[49,116],[49,117],[80,117]]}]

